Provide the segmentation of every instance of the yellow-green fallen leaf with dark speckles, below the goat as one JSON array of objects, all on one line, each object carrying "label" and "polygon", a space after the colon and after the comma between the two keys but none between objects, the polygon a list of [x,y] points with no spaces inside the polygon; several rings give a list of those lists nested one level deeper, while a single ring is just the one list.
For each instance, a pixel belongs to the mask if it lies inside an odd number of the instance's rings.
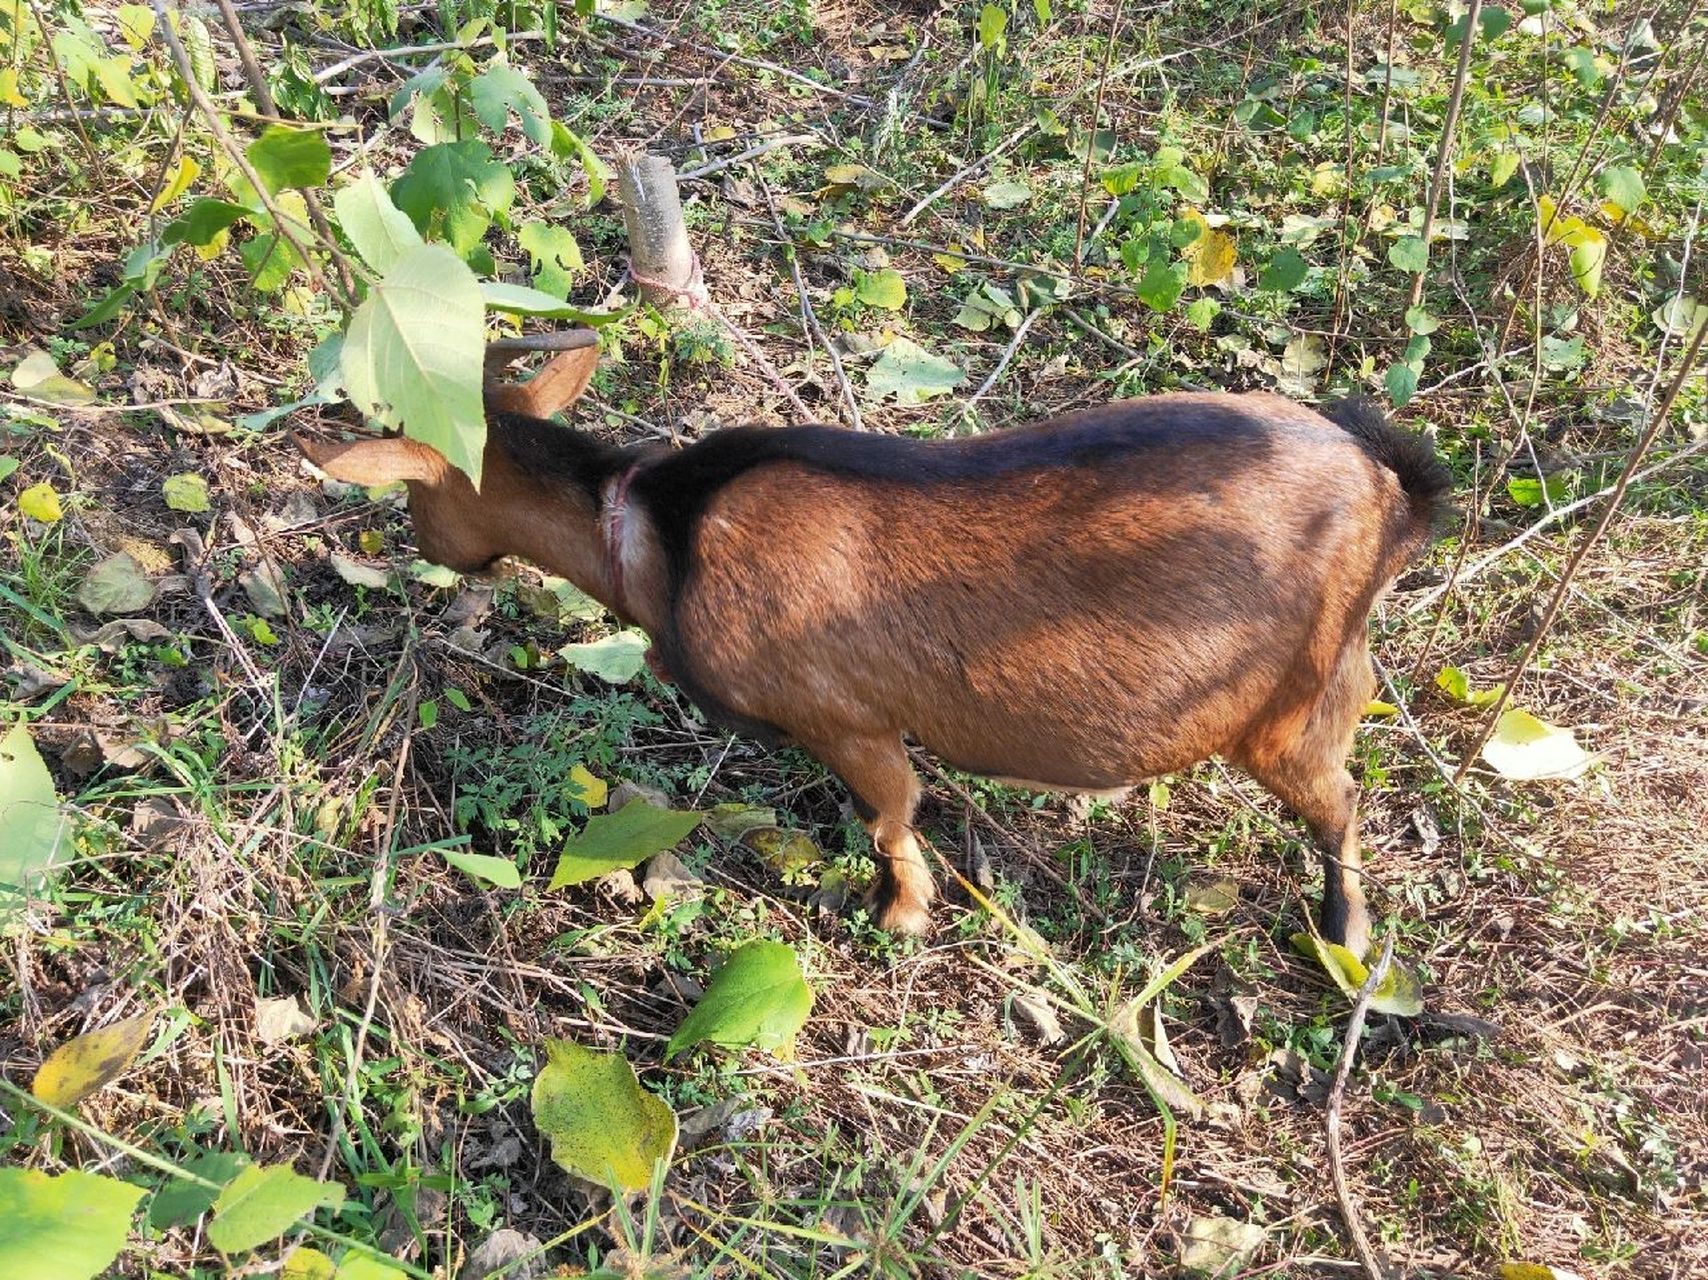
[{"label": "yellow-green fallen leaf with dark speckles, below the goat", "polygon": [[559,1166],[617,1193],[640,1191],[652,1166],[676,1150],[676,1114],[649,1094],[620,1053],[545,1042],[533,1087],[535,1128],[552,1140]]}]

